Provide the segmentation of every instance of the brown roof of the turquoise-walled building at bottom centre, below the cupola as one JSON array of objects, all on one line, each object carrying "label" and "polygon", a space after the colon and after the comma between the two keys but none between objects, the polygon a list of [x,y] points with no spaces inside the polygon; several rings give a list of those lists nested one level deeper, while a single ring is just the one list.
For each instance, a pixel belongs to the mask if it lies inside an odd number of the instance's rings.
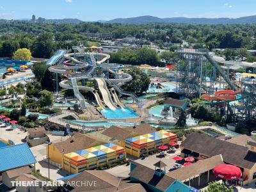
[{"label": "brown roof of the turquoise-walled building at bottom centre, below the cupola", "polygon": [[175,180],[172,177],[168,177],[167,175],[163,175],[163,177],[159,177],[155,175],[155,171],[148,168],[147,166],[143,166],[142,164],[131,161],[132,164],[136,164],[136,167],[129,173],[129,175],[135,179],[144,182],[145,184],[149,184],[150,186],[154,186],[157,189],[165,191]]}]

